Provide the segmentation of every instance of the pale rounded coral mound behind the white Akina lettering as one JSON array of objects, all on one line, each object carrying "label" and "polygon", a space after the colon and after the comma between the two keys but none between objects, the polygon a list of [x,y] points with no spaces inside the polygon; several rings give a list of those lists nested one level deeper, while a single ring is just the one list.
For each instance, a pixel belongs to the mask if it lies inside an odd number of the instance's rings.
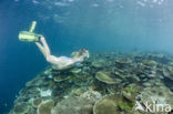
[{"label": "pale rounded coral mound behind the white Akina lettering", "polygon": [[146,105],[152,104],[156,105],[159,104],[160,107],[151,106],[150,110],[144,107],[144,111],[149,110],[149,112],[153,112],[157,110],[154,114],[166,114],[167,112],[165,108],[167,108],[167,105],[170,107],[173,107],[173,93],[164,85],[157,85],[153,87],[145,87],[141,94],[139,94],[141,104]]}]

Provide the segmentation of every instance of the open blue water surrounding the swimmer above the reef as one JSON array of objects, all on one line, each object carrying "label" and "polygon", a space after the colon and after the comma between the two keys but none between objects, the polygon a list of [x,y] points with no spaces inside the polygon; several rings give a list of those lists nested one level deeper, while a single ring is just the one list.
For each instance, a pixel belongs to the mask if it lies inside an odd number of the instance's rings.
[{"label": "open blue water surrounding the swimmer above the reef", "polygon": [[0,0],[0,113],[49,63],[19,32],[37,21],[53,55],[156,51],[173,54],[172,0]]}]

